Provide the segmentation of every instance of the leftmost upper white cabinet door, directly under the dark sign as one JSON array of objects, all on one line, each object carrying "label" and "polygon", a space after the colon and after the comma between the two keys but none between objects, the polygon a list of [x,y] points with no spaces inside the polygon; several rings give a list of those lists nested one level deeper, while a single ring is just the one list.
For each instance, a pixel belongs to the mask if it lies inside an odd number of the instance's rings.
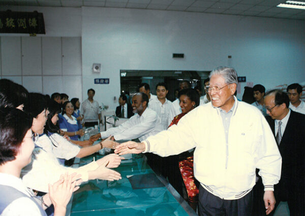
[{"label": "leftmost upper white cabinet door, directly under the dark sign", "polygon": [[1,37],[2,76],[22,75],[21,38]]}]

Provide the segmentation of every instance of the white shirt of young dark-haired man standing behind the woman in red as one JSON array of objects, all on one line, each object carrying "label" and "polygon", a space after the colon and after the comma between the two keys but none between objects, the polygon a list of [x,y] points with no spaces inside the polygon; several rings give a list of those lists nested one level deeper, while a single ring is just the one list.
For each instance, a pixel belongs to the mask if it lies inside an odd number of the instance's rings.
[{"label": "white shirt of young dark-haired man standing behind the woman in red", "polygon": [[149,101],[148,107],[149,109],[156,111],[161,119],[162,129],[167,130],[168,125],[170,125],[175,117],[173,116],[175,110],[172,102],[165,98],[165,102],[162,104],[157,98],[156,100]]}]

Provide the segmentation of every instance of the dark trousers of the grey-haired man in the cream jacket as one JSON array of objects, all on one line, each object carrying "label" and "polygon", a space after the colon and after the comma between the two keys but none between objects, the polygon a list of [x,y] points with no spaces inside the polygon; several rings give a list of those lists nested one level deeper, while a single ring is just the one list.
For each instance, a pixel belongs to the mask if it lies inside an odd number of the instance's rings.
[{"label": "dark trousers of the grey-haired man in the cream jacket", "polygon": [[199,186],[199,215],[252,215],[253,191],[235,199],[221,199]]}]

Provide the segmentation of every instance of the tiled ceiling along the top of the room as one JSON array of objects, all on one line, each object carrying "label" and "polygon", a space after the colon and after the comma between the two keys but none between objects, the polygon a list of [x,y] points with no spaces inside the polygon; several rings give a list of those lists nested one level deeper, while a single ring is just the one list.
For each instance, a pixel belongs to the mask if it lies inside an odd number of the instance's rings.
[{"label": "tiled ceiling along the top of the room", "polygon": [[0,6],[105,7],[305,20],[305,11],[277,8],[286,0],[0,0]]}]

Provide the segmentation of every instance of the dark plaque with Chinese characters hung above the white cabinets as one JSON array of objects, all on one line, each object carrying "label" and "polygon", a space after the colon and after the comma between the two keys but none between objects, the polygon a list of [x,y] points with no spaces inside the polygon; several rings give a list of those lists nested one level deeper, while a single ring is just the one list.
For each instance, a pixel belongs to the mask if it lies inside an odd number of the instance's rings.
[{"label": "dark plaque with Chinese characters hung above the white cabinets", "polygon": [[37,11],[1,11],[0,33],[45,34],[43,14]]}]

